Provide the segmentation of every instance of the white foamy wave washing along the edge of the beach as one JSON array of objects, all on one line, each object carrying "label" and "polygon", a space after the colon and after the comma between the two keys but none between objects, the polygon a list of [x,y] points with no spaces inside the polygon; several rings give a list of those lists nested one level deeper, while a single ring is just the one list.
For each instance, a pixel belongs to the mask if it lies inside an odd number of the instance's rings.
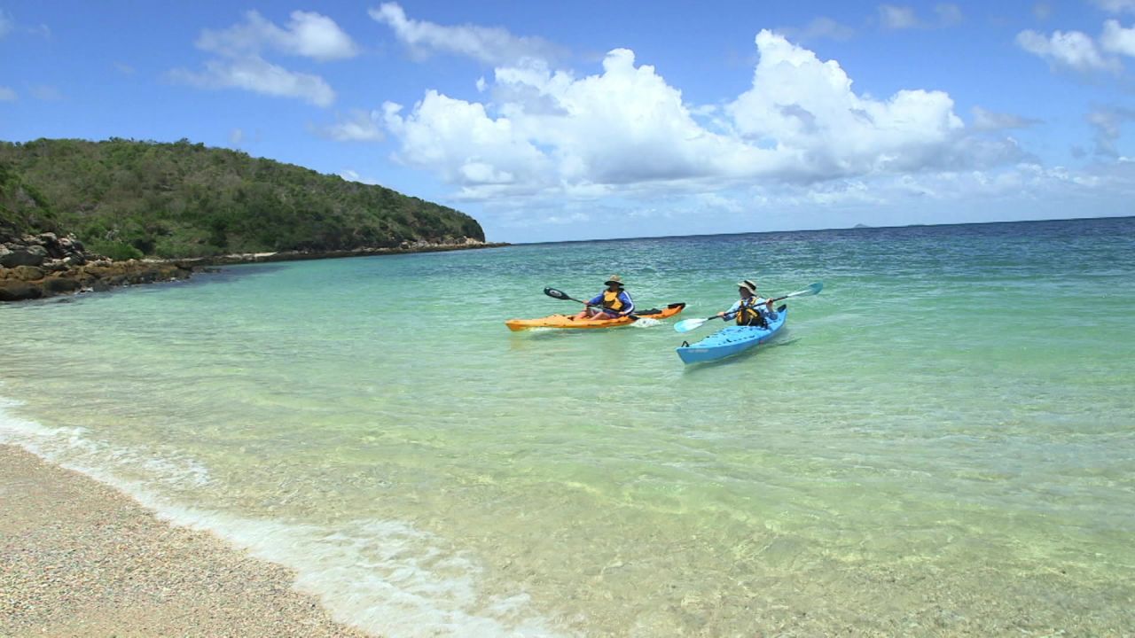
[{"label": "white foamy wave washing along the edge of the beach", "polygon": [[[532,613],[527,594],[485,596],[477,561],[401,521],[353,520],[317,526],[257,520],[175,503],[151,486],[208,482],[187,459],[155,459],[14,414],[0,397],[0,443],[17,445],[129,495],[173,524],[211,531],[251,555],[296,572],[296,589],[319,597],[336,620],[378,635],[561,636]],[[161,477],[143,484],[116,473],[142,467]]]}]

